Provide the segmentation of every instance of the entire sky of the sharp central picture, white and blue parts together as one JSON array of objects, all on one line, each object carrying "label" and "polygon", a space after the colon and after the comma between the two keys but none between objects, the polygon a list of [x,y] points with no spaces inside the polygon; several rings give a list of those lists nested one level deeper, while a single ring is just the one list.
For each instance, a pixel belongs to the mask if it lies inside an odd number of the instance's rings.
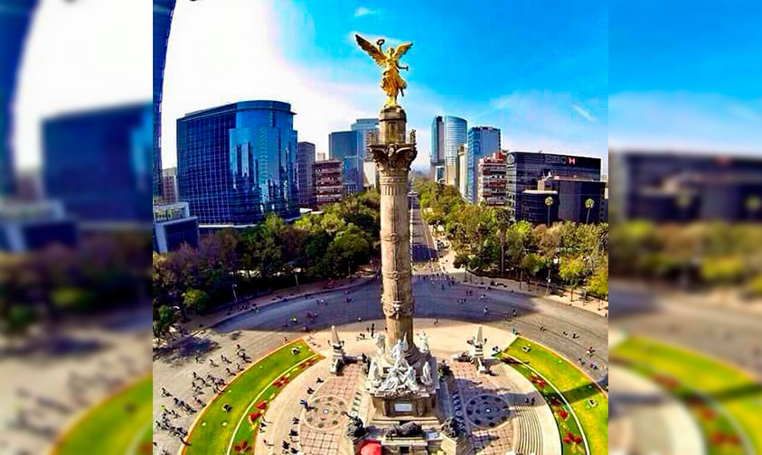
[{"label": "entire sky of the sharp central picture, white and blue parts together", "polygon": [[165,71],[163,149],[174,120],[240,99],[278,99],[299,140],[377,116],[381,69],[354,42],[413,42],[400,103],[428,170],[436,115],[503,131],[503,148],[607,156],[607,8],[598,2],[178,2]]}]

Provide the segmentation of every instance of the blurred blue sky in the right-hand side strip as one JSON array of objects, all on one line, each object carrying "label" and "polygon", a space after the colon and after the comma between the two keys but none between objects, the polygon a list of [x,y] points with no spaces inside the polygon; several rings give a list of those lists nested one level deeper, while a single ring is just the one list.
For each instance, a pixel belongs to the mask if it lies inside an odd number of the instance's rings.
[{"label": "blurred blue sky in the right-hand side strip", "polygon": [[762,153],[762,3],[609,3],[615,148]]}]

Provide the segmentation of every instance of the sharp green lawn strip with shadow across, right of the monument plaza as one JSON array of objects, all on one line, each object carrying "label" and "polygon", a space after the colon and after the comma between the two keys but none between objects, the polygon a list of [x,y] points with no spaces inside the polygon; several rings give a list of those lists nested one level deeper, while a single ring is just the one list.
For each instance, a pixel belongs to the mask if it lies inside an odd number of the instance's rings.
[{"label": "sharp green lawn strip with shadow across, right of the monument plaza", "polygon": [[[529,352],[522,351],[524,346],[530,347]],[[585,432],[585,437],[588,440],[590,455],[604,455],[608,453],[608,397],[588,376],[585,376],[579,371],[579,368],[569,363],[563,357],[522,337],[515,339],[511,346],[503,350],[502,354],[503,356],[518,359],[527,366],[532,367],[560,390],[560,393],[569,402],[571,410],[577,415],[579,423],[582,425],[582,430]],[[524,367],[521,363],[512,363],[510,365],[522,373],[522,375],[532,377],[532,373],[528,374],[528,368]],[[579,431],[579,428],[577,423],[573,422],[571,415],[566,419],[561,418],[559,414],[560,409],[566,411],[568,409],[565,409],[566,406],[558,402],[558,397],[555,397],[556,399],[554,400],[554,395],[556,394],[550,385],[543,386],[538,380],[532,382],[546,396],[546,400],[552,404],[553,414],[556,417],[556,422],[559,423],[561,439],[564,439],[568,432],[577,434],[576,431]],[[596,405],[588,404],[588,400],[591,398],[597,402]],[[575,445],[562,441],[561,445],[564,448],[564,454],[584,452],[584,450],[580,450],[583,447],[582,444]]]}]

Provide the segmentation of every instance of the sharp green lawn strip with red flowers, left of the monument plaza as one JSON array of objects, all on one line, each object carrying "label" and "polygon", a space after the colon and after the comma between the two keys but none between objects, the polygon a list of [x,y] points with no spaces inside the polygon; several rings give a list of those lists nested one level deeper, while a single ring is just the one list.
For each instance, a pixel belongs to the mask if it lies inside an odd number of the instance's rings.
[{"label": "sharp green lawn strip with red flowers, left of the monument plaza", "polygon": [[[294,355],[291,353],[291,348],[296,346],[301,348],[301,352]],[[254,403],[255,400],[259,403],[262,398],[268,398],[269,394],[263,395],[261,398],[258,397],[263,391],[270,388],[270,383],[284,376],[292,367],[313,356],[315,356],[315,352],[299,339],[279,348],[268,357],[249,367],[246,372],[228,385],[221,395],[212,400],[212,404],[206,407],[202,418],[196,423],[189,435],[188,441],[191,445],[186,446],[183,453],[187,455],[226,454],[233,432],[235,432],[236,425],[240,420],[245,419],[241,423],[240,429],[251,427],[247,415],[256,409],[249,410],[249,404]],[[289,377],[294,377],[305,369],[306,367],[296,367],[289,372]],[[224,404],[232,406],[230,413],[222,409]],[[249,436],[251,434],[253,432],[249,432]],[[238,435],[236,441],[240,441]],[[253,442],[253,438],[248,441],[249,445],[253,445]]]}]

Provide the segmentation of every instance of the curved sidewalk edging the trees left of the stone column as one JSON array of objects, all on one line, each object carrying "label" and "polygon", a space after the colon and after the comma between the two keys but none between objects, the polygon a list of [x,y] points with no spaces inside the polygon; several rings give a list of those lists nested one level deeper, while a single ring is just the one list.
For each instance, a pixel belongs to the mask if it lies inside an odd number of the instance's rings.
[{"label": "curved sidewalk edging the trees left of the stone column", "polygon": [[[187,322],[180,323],[178,326],[187,332],[187,335],[176,337],[174,340],[164,341],[158,345],[158,347],[170,347],[174,343],[182,341],[184,338],[191,336],[195,333],[202,332],[209,328],[214,327],[223,320],[234,318],[242,313],[251,311],[254,304],[259,308],[265,308],[270,304],[283,302],[284,299],[304,299],[305,297],[315,297],[321,293],[344,291],[352,289],[357,286],[361,286],[365,283],[370,283],[376,279],[376,275],[370,271],[363,271],[360,276],[354,276],[352,278],[342,278],[340,280],[334,280],[334,287],[328,289],[325,287],[326,282],[308,283],[299,286],[299,292],[296,292],[296,286],[278,289],[267,295],[261,295],[259,297],[242,297],[239,302],[230,302],[207,314],[196,314],[189,317]],[[156,347],[156,346],[155,346]]]}]

